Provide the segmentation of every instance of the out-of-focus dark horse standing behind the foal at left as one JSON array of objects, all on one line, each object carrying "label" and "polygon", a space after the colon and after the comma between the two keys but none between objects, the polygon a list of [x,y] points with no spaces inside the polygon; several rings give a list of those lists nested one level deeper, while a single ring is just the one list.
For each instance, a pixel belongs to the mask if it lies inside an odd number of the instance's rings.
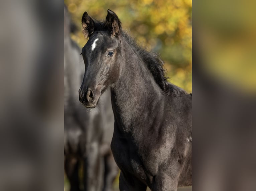
[{"label": "out-of-focus dark horse standing behind the foal at left", "polygon": [[64,7],[65,172],[71,191],[80,190],[82,185],[79,176],[81,164],[84,190],[110,191],[118,174],[110,149],[114,129],[110,91],[104,94],[99,109],[94,111],[78,101],[85,68],[81,64],[81,49],[70,38],[74,29]]}]

